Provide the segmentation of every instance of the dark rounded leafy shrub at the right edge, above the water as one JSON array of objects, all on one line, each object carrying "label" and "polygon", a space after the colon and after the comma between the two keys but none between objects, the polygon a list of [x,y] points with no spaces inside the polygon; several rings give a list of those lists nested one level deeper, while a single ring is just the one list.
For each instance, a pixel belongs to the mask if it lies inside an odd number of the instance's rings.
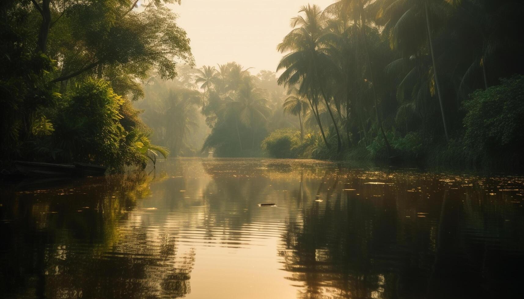
[{"label": "dark rounded leafy shrub at the right edge, above the water", "polygon": [[477,160],[522,157],[524,139],[524,76],[474,92],[464,102],[464,145]]}]

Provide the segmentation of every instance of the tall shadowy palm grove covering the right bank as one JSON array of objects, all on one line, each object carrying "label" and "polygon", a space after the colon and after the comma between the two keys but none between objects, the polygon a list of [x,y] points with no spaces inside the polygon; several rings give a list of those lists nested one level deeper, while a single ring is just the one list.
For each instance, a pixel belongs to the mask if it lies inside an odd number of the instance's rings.
[{"label": "tall shadowy palm grove covering the right bank", "polygon": [[319,131],[316,157],[344,159],[356,148],[405,160],[434,158],[442,147],[484,158],[515,152],[523,82],[490,86],[524,71],[523,8],[509,0],[302,6],[277,47],[285,54],[278,83],[293,95],[284,108]]}]

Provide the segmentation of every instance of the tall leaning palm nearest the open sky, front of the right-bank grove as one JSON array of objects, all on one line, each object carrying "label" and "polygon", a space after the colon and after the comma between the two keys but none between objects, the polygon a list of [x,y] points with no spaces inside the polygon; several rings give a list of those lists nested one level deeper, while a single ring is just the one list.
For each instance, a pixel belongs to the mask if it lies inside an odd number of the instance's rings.
[{"label": "tall leaning palm nearest the open sky, front of the right-bank grove", "polygon": [[[291,19],[291,27],[293,29],[277,46],[281,53],[291,51],[278,64],[277,71],[286,69],[280,75],[278,83],[287,86],[300,83],[300,92],[308,94],[312,98],[312,104],[315,106],[318,105],[319,96],[322,96],[335,127],[337,151],[340,152],[342,150],[342,141],[339,127],[329,104],[330,97],[325,92],[327,78],[330,73],[328,68],[334,68],[333,61],[329,57],[331,47],[324,37],[326,18],[322,15],[322,10],[317,5],[302,6],[299,13],[304,13],[305,17],[297,16]],[[315,107],[311,106],[315,110]],[[316,107],[316,110],[318,110],[318,107]],[[318,115],[317,121],[325,145],[330,148]]]}]

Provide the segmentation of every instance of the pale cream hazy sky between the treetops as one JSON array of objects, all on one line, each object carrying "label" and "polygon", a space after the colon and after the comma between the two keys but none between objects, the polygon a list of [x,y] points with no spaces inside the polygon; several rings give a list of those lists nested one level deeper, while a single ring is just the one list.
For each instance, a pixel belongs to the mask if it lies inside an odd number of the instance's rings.
[{"label": "pale cream hazy sky between the treetops", "polygon": [[[309,3],[325,8],[333,0]],[[197,67],[236,61],[256,74],[276,71],[282,57],[276,47],[304,4],[308,0],[182,0],[171,8],[188,32]]]}]

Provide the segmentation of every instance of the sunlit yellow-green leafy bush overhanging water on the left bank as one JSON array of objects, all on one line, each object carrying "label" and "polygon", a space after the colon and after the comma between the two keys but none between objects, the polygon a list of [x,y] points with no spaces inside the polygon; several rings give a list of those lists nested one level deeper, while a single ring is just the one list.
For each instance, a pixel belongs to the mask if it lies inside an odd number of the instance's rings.
[{"label": "sunlit yellow-green leafy bush overhanging water on the left bank", "polygon": [[[78,83],[54,121],[54,145],[64,162],[101,164],[113,170],[124,165],[145,167],[156,162],[157,152],[167,158],[169,149],[151,144],[151,131],[136,121],[137,110],[124,107],[124,99],[104,80]],[[120,114],[124,110],[132,117]],[[141,126],[124,128],[127,125]]]}]

